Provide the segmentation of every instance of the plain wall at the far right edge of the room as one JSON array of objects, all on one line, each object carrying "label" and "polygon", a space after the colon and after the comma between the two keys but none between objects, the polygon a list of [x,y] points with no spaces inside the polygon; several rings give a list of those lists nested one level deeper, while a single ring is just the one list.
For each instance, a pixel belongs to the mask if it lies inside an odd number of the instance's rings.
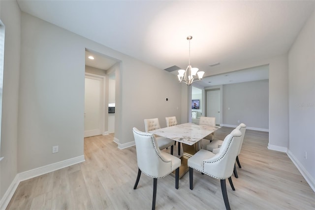
[{"label": "plain wall at the far right edge of the room", "polygon": [[288,53],[288,68],[288,154],[315,190],[315,12]]}]

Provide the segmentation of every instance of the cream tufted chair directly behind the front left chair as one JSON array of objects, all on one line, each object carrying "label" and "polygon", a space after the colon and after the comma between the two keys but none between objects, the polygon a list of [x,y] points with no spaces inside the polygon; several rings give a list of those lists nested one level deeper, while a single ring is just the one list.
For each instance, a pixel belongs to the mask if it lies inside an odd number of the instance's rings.
[{"label": "cream tufted chair directly behind the front left chair", "polygon": [[[157,129],[161,128],[159,125],[158,118],[144,119],[144,128],[145,128],[146,132],[157,130]],[[160,150],[165,149],[165,148],[170,146],[171,147],[171,155],[173,154],[174,143],[175,143],[174,140],[167,139],[164,137],[158,137],[158,136],[156,136],[156,140],[158,142],[158,148]]]}]

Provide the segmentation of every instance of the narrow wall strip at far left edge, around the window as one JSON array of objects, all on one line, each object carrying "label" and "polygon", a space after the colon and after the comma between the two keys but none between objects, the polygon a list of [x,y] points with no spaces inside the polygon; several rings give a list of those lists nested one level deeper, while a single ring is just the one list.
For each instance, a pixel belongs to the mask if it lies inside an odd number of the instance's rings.
[{"label": "narrow wall strip at far left edge, around the window", "polygon": [[[0,205],[15,178],[18,144],[21,12],[16,1],[0,1],[0,19],[5,25],[4,72],[1,123]],[[11,193],[14,193],[11,192]],[[0,206],[0,209],[1,209]]]}]

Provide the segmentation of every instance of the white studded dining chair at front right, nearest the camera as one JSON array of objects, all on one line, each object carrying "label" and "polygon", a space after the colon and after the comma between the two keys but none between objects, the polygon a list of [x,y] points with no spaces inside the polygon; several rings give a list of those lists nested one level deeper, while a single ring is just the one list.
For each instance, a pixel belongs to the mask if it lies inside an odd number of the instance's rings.
[{"label": "white studded dining chair at front right, nearest the camera", "polygon": [[188,159],[189,188],[193,189],[193,170],[220,179],[222,196],[227,210],[231,208],[228,202],[225,179],[229,180],[232,189],[235,190],[231,175],[233,174],[235,158],[241,143],[241,136],[241,131],[234,129],[223,140],[218,154],[201,149]]}]

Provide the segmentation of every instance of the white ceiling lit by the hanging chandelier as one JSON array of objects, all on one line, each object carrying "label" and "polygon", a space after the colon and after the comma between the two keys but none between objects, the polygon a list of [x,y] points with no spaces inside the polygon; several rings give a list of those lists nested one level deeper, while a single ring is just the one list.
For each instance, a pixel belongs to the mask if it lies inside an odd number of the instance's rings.
[{"label": "white ceiling lit by the hanging chandelier", "polygon": [[[217,68],[286,53],[315,9],[314,0],[18,0],[18,4],[26,13],[161,70],[174,65],[186,69],[186,37],[192,35],[190,63],[206,72],[201,86],[219,81],[220,75],[207,77]],[[116,62],[107,64],[111,58],[96,56],[100,57],[95,64],[87,65],[108,69]],[[103,64],[97,63],[100,60]],[[219,66],[209,66],[218,62]],[[253,71],[265,76],[268,67]],[[238,80],[228,74],[223,79]]]}]

